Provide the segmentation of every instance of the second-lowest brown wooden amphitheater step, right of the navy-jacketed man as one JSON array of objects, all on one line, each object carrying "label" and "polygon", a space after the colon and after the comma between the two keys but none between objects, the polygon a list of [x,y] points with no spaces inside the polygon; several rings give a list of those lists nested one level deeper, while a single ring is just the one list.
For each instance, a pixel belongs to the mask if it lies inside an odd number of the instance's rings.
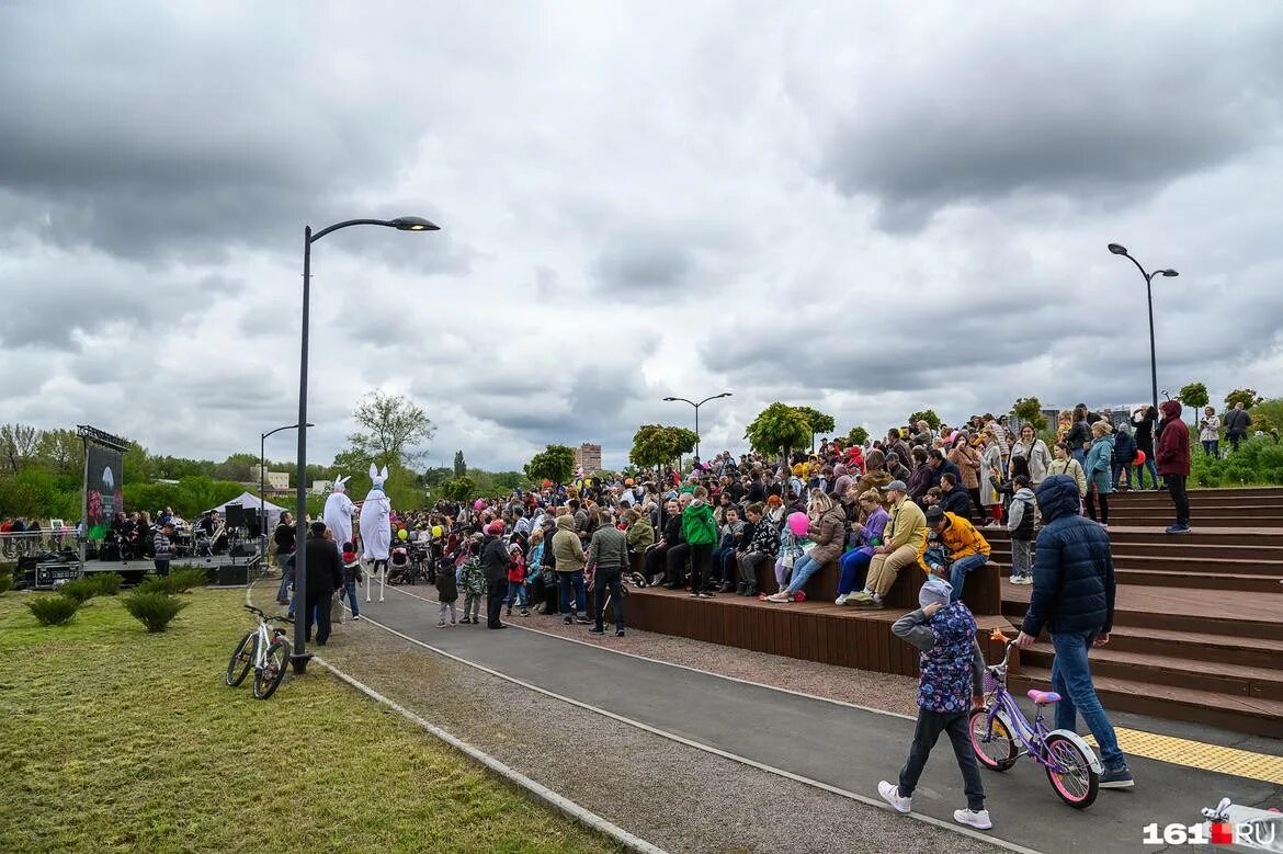
[{"label": "second-lowest brown wooden amphitheater step, right of the navy-jacketed man", "polygon": [[[1056,658],[1049,642],[1020,650],[1025,667],[1049,669]],[[1189,660],[1174,655],[1133,653],[1109,646],[1092,650],[1093,676],[1109,676],[1129,682],[1171,685],[1265,700],[1283,700],[1283,669],[1252,664]]]}]

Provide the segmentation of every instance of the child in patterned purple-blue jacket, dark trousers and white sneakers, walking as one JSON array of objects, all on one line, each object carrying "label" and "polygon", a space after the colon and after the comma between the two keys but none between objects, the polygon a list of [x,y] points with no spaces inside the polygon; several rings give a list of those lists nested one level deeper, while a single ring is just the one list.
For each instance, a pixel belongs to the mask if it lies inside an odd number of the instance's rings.
[{"label": "child in patterned purple-blue jacket, dark trousers and white sneakers, walking", "polygon": [[973,703],[983,699],[980,680],[984,658],[975,640],[975,617],[961,601],[949,604],[952,592],[949,582],[928,577],[917,594],[921,608],[892,626],[897,637],[922,653],[917,678],[917,727],[908,759],[899,772],[899,785],[884,780],[878,783],[878,794],[898,812],[907,813],[931,748],[940,733],[947,732],[966,791],[966,809],[955,810],[953,819],[960,825],[989,830],[993,822],[984,808],[984,783],[980,781],[980,764],[971,753],[967,723]]}]

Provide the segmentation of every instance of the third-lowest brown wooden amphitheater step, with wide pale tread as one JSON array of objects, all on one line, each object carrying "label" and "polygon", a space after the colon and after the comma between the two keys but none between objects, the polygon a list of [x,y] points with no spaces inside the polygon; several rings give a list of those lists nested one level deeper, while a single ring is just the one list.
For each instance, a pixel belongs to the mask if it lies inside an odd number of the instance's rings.
[{"label": "third-lowest brown wooden amphitheater step, with wide pale tread", "polygon": [[[1002,580],[1002,613],[1019,623],[1033,587]],[[1283,600],[1238,590],[1119,585],[1114,624],[1283,641]]]}]

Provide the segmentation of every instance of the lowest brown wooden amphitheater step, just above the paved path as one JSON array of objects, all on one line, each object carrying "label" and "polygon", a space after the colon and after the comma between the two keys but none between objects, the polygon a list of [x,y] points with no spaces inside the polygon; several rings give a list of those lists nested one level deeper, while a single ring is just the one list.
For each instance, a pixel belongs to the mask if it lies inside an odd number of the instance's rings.
[{"label": "lowest brown wooden amphitheater step, just above the paved path", "polygon": [[[1093,654],[1094,658],[1094,654]],[[1134,712],[1171,721],[1189,721],[1236,732],[1283,737],[1283,700],[1242,696],[1215,690],[1139,682],[1115,676],[1093,678],[1106,712]],[[1051,671],[1021,666],[1010,677],[1012,690],[1051,690]],[[1082,719],[1079,719],[1082,726]]]}]

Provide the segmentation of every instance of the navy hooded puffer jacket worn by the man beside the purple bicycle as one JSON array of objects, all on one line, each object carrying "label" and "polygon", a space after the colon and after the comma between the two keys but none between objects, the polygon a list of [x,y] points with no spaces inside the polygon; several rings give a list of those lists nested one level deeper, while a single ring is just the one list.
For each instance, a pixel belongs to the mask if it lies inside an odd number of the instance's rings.
[{"label": "navy hooded puffer jacket worn by the man beside the purple bicycle", "polygon": [[1114,626],[1110,535],[1078,514],[1078,483],[1051,474],[1038,485],[1043,528],[1034,558],[1034,589],[1020,631],[1109,632]]}]

